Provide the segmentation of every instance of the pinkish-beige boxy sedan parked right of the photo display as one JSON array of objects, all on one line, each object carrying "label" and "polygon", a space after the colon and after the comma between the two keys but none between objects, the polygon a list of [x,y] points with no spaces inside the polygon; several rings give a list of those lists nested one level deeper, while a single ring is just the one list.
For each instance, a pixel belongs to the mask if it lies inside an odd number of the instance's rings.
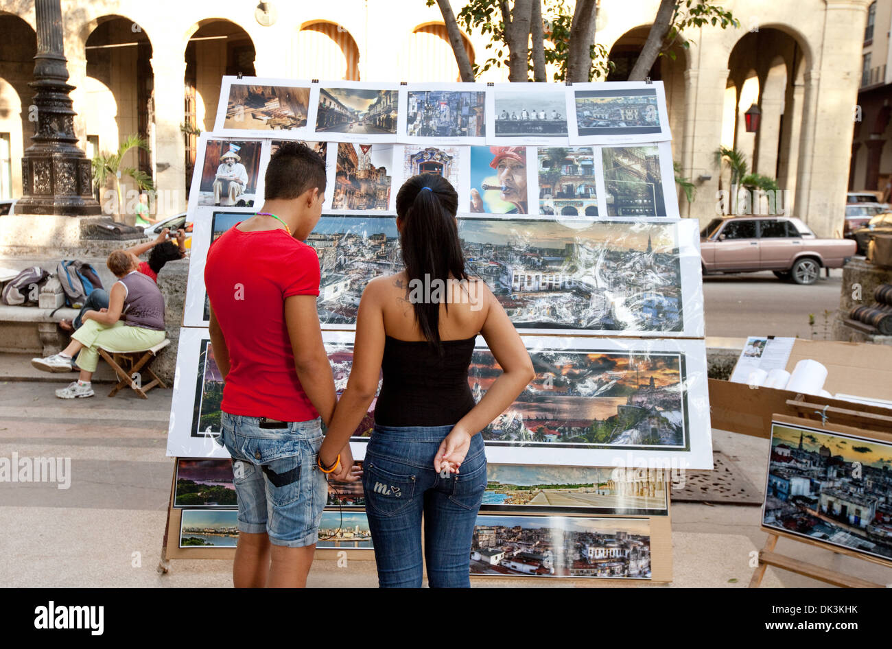
[{"label": "pinkish-beige boxy sedan parked right of the photo display", "polygon": [[821,268],[840,268],[855,254],[850,239],[819,239],[798,218],[714,218],[700,233],[703,274],[771,270],[811,284]]}]

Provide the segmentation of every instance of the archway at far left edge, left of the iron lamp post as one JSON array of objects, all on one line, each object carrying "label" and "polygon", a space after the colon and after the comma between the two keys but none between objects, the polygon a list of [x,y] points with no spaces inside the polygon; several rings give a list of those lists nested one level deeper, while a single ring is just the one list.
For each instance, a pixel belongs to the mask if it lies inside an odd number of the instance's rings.
[{"label": "archway at far left edge, left of the iron lamp post", "polygon": [[[0,13],[0,198],[21,196],[19,161],[31,145],[34,122],[28,107],[37,34],[28,22]],[[30,114],[33,118],[33,114]]]}]

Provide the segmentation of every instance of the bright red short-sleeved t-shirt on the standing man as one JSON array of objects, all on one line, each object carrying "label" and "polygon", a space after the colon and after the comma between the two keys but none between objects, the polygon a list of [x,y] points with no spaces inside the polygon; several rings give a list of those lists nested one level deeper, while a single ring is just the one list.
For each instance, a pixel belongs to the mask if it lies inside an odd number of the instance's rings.
[{"label": "bright red short-sleeved t-shirt on the standing man", "polygon": [[285,326],[285,298],[319,294],[316,251],[285,230],[233,226],[208,251],[204,285],[229,350],[222,409],[285,422],[318,417]]}]

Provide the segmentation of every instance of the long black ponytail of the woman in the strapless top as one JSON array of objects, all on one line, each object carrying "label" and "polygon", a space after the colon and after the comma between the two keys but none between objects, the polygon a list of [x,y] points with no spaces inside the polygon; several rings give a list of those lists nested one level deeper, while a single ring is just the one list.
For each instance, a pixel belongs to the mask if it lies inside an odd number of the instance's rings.
[{"label": "long black ponytail of the woman in the strapless top", "polygon": [[[410,296],[414,287],[433,287],[434,280],[440,280],[442,300],[446,302],[450,275],[456,280],[467,280],[465,254],[461,251],[455,222],[457,211],[458,193],[448,180],[436,174],[410,177],[397,193],[396,213],[402,223],[400,246],[409,275]],[[425,339],[442,349],[440,302],[429,300],[430,294],[422,292],[424,299],[410,300],[415,319]],[[449,308],[448,302],[446,308]]]}]

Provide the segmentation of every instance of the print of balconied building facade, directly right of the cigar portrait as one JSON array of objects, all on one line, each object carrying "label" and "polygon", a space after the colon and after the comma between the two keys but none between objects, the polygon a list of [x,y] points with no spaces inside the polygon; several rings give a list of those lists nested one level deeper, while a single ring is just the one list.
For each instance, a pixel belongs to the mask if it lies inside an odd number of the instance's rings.
[{"label": "print of balconied building facade, directly right of the cigar portrait", "polygon": [[[539,213],[597,217],[598,178],[591,146],[544,147],[539,160]],[[598,163],[600,160],[598,160]]]}]

